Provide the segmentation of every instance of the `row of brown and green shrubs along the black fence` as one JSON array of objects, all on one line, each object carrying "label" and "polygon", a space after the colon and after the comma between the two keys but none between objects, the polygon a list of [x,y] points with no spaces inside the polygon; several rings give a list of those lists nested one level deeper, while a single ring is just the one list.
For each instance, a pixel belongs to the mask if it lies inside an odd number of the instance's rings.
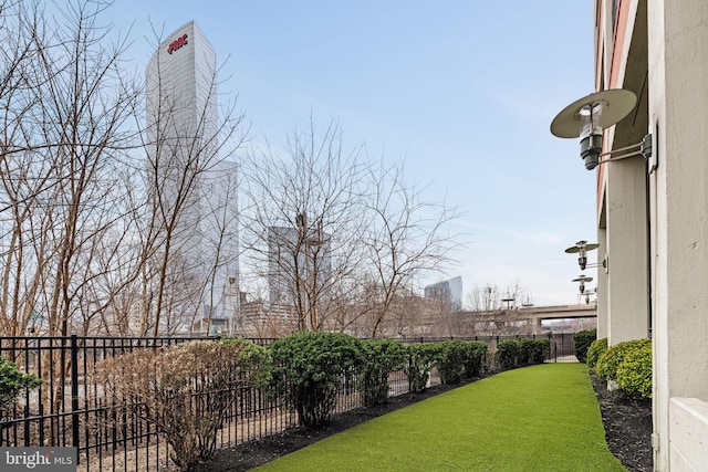
[{"label": "row of brown and green shrubs along the black fence", "polygon": [[497,349],[489,353],[485,343],[471,340],[405,345],[301,332],[264,347],[229,338],[138,349],[96,364],[94,380],[105,387],[108,405],[137,400],[144,406],[142,415],[170,438],[173,461],[189,468],[214,454],[216,429],[242,384],[283,399],[303,426],[319,427],[329,420],[343,388],[358,390],[363,405],[371,407],[387,401],[394,371],[405,373],[410,391],[421,391],[434,368],[442,384],[456,384],[496,369],[498,361],[503,368],[542,363],[550,342],[506,339]]}]

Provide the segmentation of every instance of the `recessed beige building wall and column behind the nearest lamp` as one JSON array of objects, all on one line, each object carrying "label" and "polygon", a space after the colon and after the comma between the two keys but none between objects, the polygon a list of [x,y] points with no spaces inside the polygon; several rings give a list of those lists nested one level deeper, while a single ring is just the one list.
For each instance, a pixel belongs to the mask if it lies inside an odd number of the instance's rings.
[{"label": "recessed beige building wall and column behind the nearest lamp", "polygon": [[[615,22],[612,1],[600,1],[603,14],[597,22],[597,77],[601,88],[627,88],[639,104],[627,119],[605,132],[605,150],[637,144],[646,135],[646,107],[642,85],[645,82],[645,48],[637,48],[639,36],[646,41],[644,27],[635,25],[638,1],[618,2]],[[639,64],[639,67],[637,67]],[[637,69],[643,69],[638,71]],[[598,242],[601,256],[608,266],[597,270],[600,333],[611,345],[648,336],[648,228],[646,162],[642,157],[614,161],[598,168]]]}]

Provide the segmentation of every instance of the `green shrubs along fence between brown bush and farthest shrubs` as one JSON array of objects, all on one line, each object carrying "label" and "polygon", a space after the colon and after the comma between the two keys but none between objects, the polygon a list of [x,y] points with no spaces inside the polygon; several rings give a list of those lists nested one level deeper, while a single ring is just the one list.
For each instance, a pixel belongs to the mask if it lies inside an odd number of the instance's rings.
[{"label": "green shrubs along fence between brown bush and farthest shrubs", "polygon": [[268,386],[294,406],[304,426],[327,421],[345,376],[358,376],[356,388],[366,407],[388,398],[388,376],[403,370],[410,391],[426,388],[437,368],[444,384],[478,376],[485,368],[487,345],[447,340],[404,345],[394,339],[362,340],[348,335],[302,332],[264,348],[271,356]]}]

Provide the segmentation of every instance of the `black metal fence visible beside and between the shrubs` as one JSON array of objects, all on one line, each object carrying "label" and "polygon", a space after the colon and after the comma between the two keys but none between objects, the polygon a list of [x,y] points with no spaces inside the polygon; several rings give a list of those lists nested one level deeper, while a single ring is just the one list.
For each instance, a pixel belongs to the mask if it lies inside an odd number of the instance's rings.
[{"label": "black metal fence visible beside and between the shrubs", "polygon": [[[513,336],[510,336],[513,337]],[[577,361],[570,334],[543,335],[551,342],[549,361]],[[465,338],[481,340],[493,349],[504,336]],[[167,442],[157,427],[131,408],[106,405],[103,386],[93,380],[96,363],[136,349],[163,347],[205,338],[123,337],[2,337],[0,356],[22,371],[43,379],[37,390],[23,396],[11,415],[0,412],[0,447],[75,447],[81,471],[169,470]],[[406,343],[430,343],[450,338],[412,338]],[[251,339],[264,345],[272,339]],[[430,385],[439,384],[434,371]],[[355,380],[343,385],[336,412],[362,406]],[[241,385],[238,401],[227,413],[218,445],[229,447],[269,437],[296,424],[298,418],[282,400],[270,399],[262,389]],[[408,392],[404,373],[389,378],[389,396]],[[119,416],[119,418],[116,418]]]}]

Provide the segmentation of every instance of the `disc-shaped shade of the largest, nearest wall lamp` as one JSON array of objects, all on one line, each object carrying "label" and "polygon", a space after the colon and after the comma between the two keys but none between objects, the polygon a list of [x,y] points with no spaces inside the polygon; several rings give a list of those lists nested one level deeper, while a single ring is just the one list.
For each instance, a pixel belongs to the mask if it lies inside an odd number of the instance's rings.
[{"label": "disc-shaped shade of the largest, nearest wall lamp", "polygon": [[559,138],[576,138],[583,129],[580,111],[602,103],[600,126],[605,129],[622,120],[634,109],[637,96],[623,88],[596,92],[568,105],[551,122],[551,133]]}]

